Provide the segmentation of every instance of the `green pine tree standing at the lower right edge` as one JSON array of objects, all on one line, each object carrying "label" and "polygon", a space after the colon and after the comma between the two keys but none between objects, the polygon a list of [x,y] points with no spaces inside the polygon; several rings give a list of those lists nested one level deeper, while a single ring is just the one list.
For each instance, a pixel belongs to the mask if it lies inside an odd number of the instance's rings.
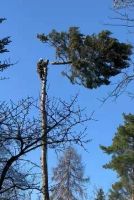
[{"label": "green pine tree standing at the lower right edge", "polygon": [[[111,155],[111,161],[104,165],[106,169],[117,172],[119,182],[112,186],[111,195],[118,199],[134,199],[134,115],[124,115],[124,125],[120,125],[111,146],[101,149]],[[117,198],[117,197],[116,197]]]}]

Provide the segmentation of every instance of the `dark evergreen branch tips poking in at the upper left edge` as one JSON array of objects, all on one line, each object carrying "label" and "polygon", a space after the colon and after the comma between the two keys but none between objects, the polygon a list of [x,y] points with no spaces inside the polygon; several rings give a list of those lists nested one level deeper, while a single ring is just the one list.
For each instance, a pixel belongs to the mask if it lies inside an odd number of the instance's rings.
[{"label": "dark evergreen branch tips poking in at the upper left edge", "polygon": [[[5,18],[0,18],[0,23],[2,23]],[[8,49],[6,48],[7,45],[11,42],[10,37],[4,37],[0,39],[0,54],[9,52]],[[1,61],[0,60],[0,72],[5,70],[6,68],[10,67],[12,64],[9,63],[7,60]]]}]

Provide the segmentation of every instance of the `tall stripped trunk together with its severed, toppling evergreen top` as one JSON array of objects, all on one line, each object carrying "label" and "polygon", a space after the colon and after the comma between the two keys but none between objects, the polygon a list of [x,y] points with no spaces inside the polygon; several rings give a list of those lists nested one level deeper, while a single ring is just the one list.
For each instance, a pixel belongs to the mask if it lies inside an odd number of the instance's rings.
[{"label": "tall stripped trunk together with its severed, toppling evergreen top", "polygon": [[[44,188],[44,200],[49,200],[49,191],[47,189],[47,112],[45,104],[48,65],[69,65],[68,71],[64,71],[63,75],[68,77],[73,84],[77,83],[93,89],[101,85],[109,85],[111,77],[120,74],[124,68],[129,67],[132,46],[121,43],[116,38],[111,37],[110,31],[102,31],[98,35],[84,35],[80,33],[78,27],[71,27],[68,32],[53,30],[48,35],[38,34],[37,38],[43,43],[48,43],[54,47],[56,54],[55,61],[50,62],[47,59],[41,59],[37,64],[37,71],[42,85],[42,144],[44,144],[42,145],[41,159],[42,177],[44,177],[42,188]],[[44,161],[43,157],[45,158]],[[43,165],[46,166],[45,169]]]}]

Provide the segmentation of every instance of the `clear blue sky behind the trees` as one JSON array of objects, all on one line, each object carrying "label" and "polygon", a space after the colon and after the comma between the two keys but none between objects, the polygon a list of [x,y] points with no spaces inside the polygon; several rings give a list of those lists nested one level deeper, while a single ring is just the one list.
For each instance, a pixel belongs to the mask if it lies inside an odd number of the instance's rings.
[{"label": "clear blue sky behind the trees", "polygon": [[[36,63],[41,57],[50,60],[54,57],[53,51],[37,40],[37,33],[48,33],[53,28],[65,31],[69,26],[78,26],[85,34],[110,29],[114,36],[122,41],[127,40],[127,30],[104,25],[109,22],[108,17],[112,16],[111,6],[110,0],[1,0],[0,17],[7,18],[7,21],[0,27],[0,37],[9,35],[12,39],[9,45],[10,53],[5,56],[18,63],[3,73],[10,79],[0,84],[0,100],[16,101],[26,96],[39,96],[40,84]],[[110,88],[103,86],[91,91],[71,85],[61,75],[62,68],[64,67],[49,70],[49,94],[68,100],[70,96],[79,92],[79,104],[86,107],[87,114],[95,110],[94,117],[98,121],[88,124],[88,135],[92,139],[87,146],[89,154],[83,150],[79,152],[82,153],[86,174],[91,180],[88,192],[91,193],[95,185],[107,191],[116,176],[102,168],[109,158],[101,152],[99,144],[111,143],[116,128],[123,123],[122,113],[133,113],[133,101],[122,95],[117,102],[109,101],[101,107],[97,98],[104,97]],[[49,166],[51,174],[51,167],[55,166],[55,162],[50,161]]]}]

